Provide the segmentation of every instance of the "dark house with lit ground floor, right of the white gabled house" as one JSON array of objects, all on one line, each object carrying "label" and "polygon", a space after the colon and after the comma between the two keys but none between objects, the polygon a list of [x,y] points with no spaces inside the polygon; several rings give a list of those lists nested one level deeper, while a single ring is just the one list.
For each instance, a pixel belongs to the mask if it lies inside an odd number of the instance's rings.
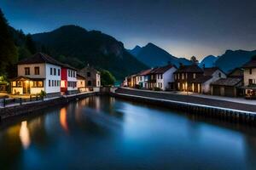
[{"label": "dark house with lit ground floor, right of the white gabled house", "polygon": [[[204,71],[198,65],[180,65],[174,72],[175,88],[178,91],[193,92],[192,84],[195,79],[203,77]],[[194,85],[194,91],[200,87]]]}]

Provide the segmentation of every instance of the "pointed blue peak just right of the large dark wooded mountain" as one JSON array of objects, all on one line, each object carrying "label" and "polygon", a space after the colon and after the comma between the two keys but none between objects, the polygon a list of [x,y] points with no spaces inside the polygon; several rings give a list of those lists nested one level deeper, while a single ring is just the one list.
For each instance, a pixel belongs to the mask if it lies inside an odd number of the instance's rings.
[{"label": "pointed blue peak just right of the large dark wooded mountain", "polygon": [[172,63],[173,65],[190,65],[191,62],[188,59],[177,58],[172,54],[166,52],[166,50],[157,47],[153,43],[149,42],[145,47],[140,48],[139,46],[128,50],[129,53],[133,54],[139,61],[143,62],[148,67],[166,65],[167,63]]}]

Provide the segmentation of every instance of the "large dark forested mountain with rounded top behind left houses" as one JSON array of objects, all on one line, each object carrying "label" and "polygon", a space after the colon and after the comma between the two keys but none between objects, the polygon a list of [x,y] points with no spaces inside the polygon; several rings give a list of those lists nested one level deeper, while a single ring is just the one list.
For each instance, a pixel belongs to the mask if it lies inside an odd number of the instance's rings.
[{"label": "large dark forested mountain with rounded top behind left houses", "polygon": [[129,54],[122,42],[102,33],[87,31],[80,26],[60,28],[32,35],[42,52],[75,67],[94,65],[113,73],[117,79],[148,67]]}]

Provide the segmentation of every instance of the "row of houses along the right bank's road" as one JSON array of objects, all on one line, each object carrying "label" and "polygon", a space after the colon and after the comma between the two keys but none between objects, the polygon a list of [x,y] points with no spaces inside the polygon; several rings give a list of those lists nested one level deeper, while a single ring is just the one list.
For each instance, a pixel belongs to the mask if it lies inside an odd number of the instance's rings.
[{"label": "row of houses along the right bank's road", "polygon": [[166,65],[125,77],[123,86],[130,88],[177,90],[228,97],[256,96],[256,57],[241,68],[226,74],[218,67]]}]

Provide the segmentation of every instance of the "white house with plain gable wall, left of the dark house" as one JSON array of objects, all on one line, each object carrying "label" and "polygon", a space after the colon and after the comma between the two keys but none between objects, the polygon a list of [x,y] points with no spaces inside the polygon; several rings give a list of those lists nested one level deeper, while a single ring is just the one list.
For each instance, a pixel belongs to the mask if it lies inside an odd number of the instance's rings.
[{"label": "white house with plain gable wall, left of the dark house", "polygon": [[174,89],[174,75],[173,73],[177,70],[177,67],[174,65],[166,65],[162,67],[155,68],[151,71],[151,74],[154,74],[155,87],[160,88],[161,90],[172,90]]}]

